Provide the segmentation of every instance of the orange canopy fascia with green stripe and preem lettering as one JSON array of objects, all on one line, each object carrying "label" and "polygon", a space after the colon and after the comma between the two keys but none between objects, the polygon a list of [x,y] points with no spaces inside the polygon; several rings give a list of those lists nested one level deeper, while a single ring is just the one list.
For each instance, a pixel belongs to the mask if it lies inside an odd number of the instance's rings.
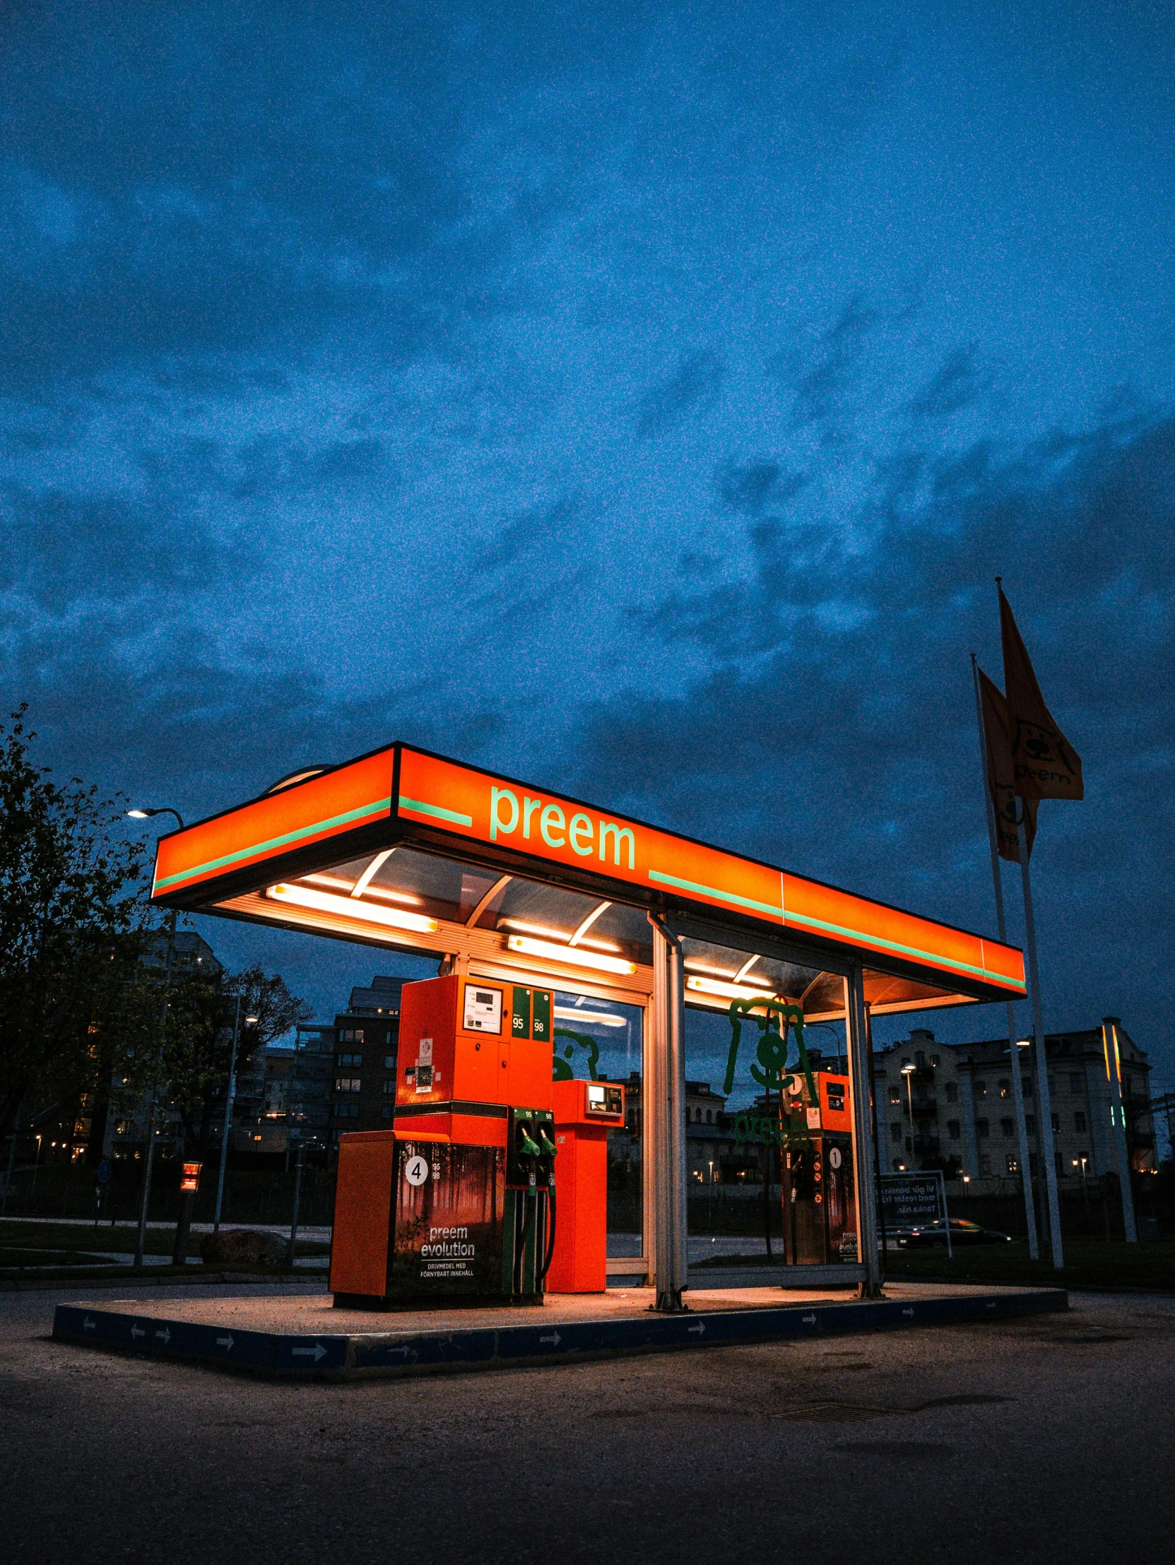
[{"label": "orange canopy fascia with green stripe and preem lettering", "polygon": [[637,906],[706,909],[890,970],[948,975],[975,1000],[1025,994],[1022,953],[582,800],[393,743],[160,839],[152,898],[228,897],[399,842]]}]

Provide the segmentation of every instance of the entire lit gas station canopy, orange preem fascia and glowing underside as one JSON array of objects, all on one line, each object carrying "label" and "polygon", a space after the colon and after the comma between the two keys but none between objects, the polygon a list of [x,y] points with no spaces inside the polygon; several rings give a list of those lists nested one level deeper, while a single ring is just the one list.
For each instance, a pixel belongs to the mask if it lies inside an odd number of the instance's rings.
[{"label": "entire lit gas station canopy, orange preem fascia and glowing underside", "polygon": [[845,1014],[1019,998],[997,941],[410,745],[305,768],[158,844],[169,908],[652,991],[652,928],[684,941],[685,1003],[776,995]]}]

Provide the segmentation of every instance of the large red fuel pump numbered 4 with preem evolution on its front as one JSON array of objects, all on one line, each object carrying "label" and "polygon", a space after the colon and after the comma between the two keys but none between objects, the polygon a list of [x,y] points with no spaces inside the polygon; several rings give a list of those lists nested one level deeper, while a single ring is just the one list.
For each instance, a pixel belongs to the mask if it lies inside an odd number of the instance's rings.
[{"label": "large red fuel pump numbered 4 with preem evolution on its front", "polygon": [[543,1302],[551,1070],[549,991],[404,986],[394,1128],[340,1138],[336,1305]]}]

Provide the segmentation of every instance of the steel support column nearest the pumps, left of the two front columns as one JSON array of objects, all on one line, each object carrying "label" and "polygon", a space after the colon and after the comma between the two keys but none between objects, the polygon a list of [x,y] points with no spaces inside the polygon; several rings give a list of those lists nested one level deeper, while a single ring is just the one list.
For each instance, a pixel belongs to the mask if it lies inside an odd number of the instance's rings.
[{"label": "steel support column nearest the pumps, left of the two front columns", "polygon": [[652,1166],[656,1310],[684,1310],[685,1249],[685,973],[681,941],[654,917],[648,1147]]}]

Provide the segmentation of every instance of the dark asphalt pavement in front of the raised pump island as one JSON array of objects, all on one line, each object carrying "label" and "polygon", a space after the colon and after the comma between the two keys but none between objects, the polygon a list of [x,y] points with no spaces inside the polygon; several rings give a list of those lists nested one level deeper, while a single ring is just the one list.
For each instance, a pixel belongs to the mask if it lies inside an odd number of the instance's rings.
[{"label": "dark asphalt pavement in front of the raised pump island", "polygon": [[[158,1310],[169,1290],[147,1293]],[[1170,1557],[1166,1296],[349,1385],[55,1344],[69,1297],[0,1296],[3,1554],[20,1565]]]}]

